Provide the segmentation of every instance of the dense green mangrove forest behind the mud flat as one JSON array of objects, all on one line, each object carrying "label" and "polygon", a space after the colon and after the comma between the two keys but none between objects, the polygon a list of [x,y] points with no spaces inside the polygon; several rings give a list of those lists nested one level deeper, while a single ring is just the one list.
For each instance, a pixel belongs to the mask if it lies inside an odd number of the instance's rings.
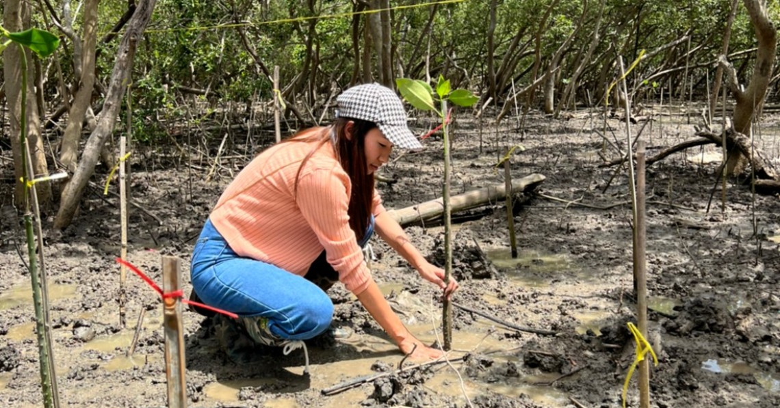
[{"label": "dense green mangrove forest behind the mud flat", "polygon": [[[725,66],[736,76],[729,83],[747,84],[763,64],[759,89],[743,95],[758,101],[750,105],[761,104],[761,88],[771,99],[778,90],[776,37],[760,30],[774,30],[777,2],[9,0],[2,8],[6,30],[37,26],[62,38],[53,58],[29,65],[35,97],[27,110],[35,173],[71,176],[54,193],[37,184],[44,209],[59,203],[59,228],[72,222],[101,157],[105,166],[116,163],[106,142],[117,135],[178,146],[193,128],[207,138],[225,129],[268,131],[275,95],[288,129],[323,121],[335,95],[353,84],[430,83],[439,75],[480,95],[474,113],[487,110],[497,122],[530,109],[559,117],[603,106],[619,57],[640,58],[627,77],[636,104],[709,100]],[[20,62],[13,47],[4,52],[0,147],[18,158]],[[727,63],[719,65],[718,55]],[[746,118],[755,118],[752,107]],[[17,206],[21,188],[16,183]]]}]

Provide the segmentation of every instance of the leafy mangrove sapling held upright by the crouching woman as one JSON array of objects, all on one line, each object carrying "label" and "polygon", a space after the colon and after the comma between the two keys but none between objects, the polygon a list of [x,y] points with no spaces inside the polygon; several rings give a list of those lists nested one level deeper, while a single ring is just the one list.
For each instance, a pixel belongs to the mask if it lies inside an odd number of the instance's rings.
[{"label": "leafy mangrove sapling held upright by the crouching woman", "polygon": [[[444,245],[445,245],[445,284],[449,285],[452,276],[452,223],[451,206],[449,202],[449,181],[452,169],[450,168],[449,154],[449,112],[447,102],[452,101],[461,107],[470,107],[477,103],[479,98],[475,97],[469,90],[451,90],[449,80],[444,76],[439,76],[436,84],[436,93],[438,96],[439,108],[434,105],[434,90],[431,85],[420,81],[419,79],[399,78],[395,79],[401,96],[412,104],[413,107],[421,111],[434,111],[441,119],[441,132],[444,137],[444,186],[442,188],[442,202],[444,204]],[[444,299],[444,308],[442,311],[442,326],[444,332],[444,350],[452,348],[452,304],[449,299]]]}]

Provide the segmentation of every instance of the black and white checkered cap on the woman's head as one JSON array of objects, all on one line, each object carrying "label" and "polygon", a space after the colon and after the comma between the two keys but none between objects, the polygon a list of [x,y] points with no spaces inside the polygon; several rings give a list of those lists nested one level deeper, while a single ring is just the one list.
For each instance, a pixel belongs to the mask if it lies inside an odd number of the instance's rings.
[{"label": "black and white checkered cap on the woman's head", "polygon": [[353,86],[339,95],[336,103],[337,117],[372,121],[393,145],[402,149],[423,147],[406,125],[401,98],[388,87],[378,83]]}]

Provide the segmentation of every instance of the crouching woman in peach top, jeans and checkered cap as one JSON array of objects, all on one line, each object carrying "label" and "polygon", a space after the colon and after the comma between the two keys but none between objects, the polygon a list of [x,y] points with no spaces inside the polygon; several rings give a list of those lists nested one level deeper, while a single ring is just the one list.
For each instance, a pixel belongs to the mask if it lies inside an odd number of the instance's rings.
[{"label": "crouching woman in peach top, jeans and checkered cap", "polygon": [[393,147],[417,149],[420,142],[406,126],[401,100],[385,86],[354,86],[336,101],[332,126],[266,149],[222,194],[193,249],[193,293],[239,315],[255,342],[288,353],[331,325],[325,290],[338,280],[402,353],[440,357],[392,311],[361,251],[376,230],[446,297],[457,289],[409,241],[374,189],[373,174]]}]

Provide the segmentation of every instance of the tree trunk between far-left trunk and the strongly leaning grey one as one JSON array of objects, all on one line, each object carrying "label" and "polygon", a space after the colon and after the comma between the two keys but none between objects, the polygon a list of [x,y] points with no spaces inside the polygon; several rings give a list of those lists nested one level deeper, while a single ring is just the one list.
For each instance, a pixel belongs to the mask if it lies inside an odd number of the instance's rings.
[{"label": "tree trunk between far-left trunk and the strongly leaning grey one", "polygon": [[[79,142],[81,139],[81,127],[87,108],[92,102],[92,90],[95,82],[95,44],[97,43],[97,6],[100,0],[87,0],[84,4],[83,41],[76,37],[80,44],[80,61],[74,61],[74,66],[79,66],[75,72],[80,72],[76,97],[70,105],[68,123],[65,134],[62,135],[59,160],[73,173],[76,171],[78,160]],[[74,55],[74,58],[76,55]]]}]

